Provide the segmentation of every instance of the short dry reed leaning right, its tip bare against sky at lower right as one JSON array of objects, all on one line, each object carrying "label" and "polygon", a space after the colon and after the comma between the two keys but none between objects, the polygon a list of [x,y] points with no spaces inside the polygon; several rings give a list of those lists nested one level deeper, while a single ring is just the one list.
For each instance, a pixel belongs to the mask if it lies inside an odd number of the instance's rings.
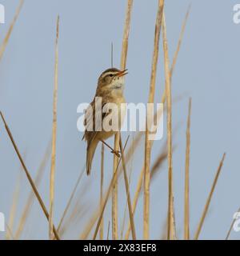
[{"label": "short dry reed leaning right, its tip bare against sky at lower right", "polygon": [[212,196],[214,194],[214,189],[215,189],[215,186],[216,186],[216,184],[218,182],[218,177],[219,177],[219,174],[220,174],[220,172],[222,170],[222,165],[223,165],[223,162],[225,160],[225,157],[226,157],[226,153],[223,154],[222,160],[221,160],[221,162],[220,162],[220,164],[218,166],[218,170],[217,170],[217,173],[215,175],[214,182],[213,182],[213,185],[212,185],[211,190],[210,190],[210,194],[209,194],[209,196],[208,196],[208,198],[206,200],[206,205],[204,207],[204,210],[202,212],[202,217],[201,217],[200,222],[198,224],[198,229],[196,231],[196,234],[194,235],[194,239],[195,240],[198,240],[199,234],[200,234],[200,232],[202,230],[202,225],[203,225],[203,222],[205,220],[207,210],[208,210],[208,208],[210,206],[211,198],[212,198]]}]

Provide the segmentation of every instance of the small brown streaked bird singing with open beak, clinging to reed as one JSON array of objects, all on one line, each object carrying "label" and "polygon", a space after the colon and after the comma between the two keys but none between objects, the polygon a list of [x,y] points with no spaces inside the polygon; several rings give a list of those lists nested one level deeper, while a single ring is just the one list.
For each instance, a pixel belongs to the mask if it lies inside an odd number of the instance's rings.
[{"label": "small brown streaked bird singing with open beak, clinging to reed", "polygon": [[[123,122],[123,117],[125,115],[126,108],[122,107],[122,103],[125,103],[125,98],[123,95],[124,85],[125,85],[125,75],[127,70],[118,70],[116,68],[110,68],[105,70],[98,78],[98,86],[94,100],[90,103],[90,106],[86,109],[85,113],[85,134],[82,139],[85,138],[87,142],[86,147],[86,174],[90,175],[90,170],[94,158],[95,150],[98,146],[98,142],[104,142],[107,138],[110,138],[116,134],[116,130],[104,130],[102,124],[106,120],[105,118],[111,113],[112,117],[118,115],[118,129],[120,130]],[[97,99],[101,98],[100,108],[96,108]],[[116,108],[110,111],[106,110],[107,103],[114,103]],[[105,109],[104,111],[102,111]],[[99,119],[100,118],[100,119]],[[100,120],[96,123],[96,120]],[[98,121],[97,121],[98,122]],[[96,129],[98,126],[98,129]],[[101,126],[99,129],[99,126]],[[92,128],[92,129],[90,129]],[[106,144],[106,142],[104,142]],[[108,146],[106,144],[106,146]],[[110,147],[110,146],[109,146]],[[114,150],[112,153],[118,154]]]}]

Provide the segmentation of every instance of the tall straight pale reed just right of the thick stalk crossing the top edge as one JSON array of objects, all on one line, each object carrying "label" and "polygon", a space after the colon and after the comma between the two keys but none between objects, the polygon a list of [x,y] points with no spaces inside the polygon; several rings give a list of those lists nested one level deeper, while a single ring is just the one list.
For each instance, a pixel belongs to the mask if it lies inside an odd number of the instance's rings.
[{"label": "tall straight pale reed just right of the thick stalk crossing the top edge", "polygon": [[172,163],[172,95],[170,82],[170,61],[168,54],[168,43],[166,38],[165,14],[162,15],[162,38],[164,52],[164,67],[166,78],[166,117],[167,117],[167,151],[168,151],[168,228],[167,238],[175,239],[174,226],[174,193],[173,193],[173,163]]}]

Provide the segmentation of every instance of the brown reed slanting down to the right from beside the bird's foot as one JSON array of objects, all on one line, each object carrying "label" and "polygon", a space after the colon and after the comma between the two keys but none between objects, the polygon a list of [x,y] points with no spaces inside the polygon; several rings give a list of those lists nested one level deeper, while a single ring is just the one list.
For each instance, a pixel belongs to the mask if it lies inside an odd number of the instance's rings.
[{"label": "brown reed slanting down to the right from beside the bird's foot", "polygon": [[120,134],[120,150],[122,154],[122,166],[123,166],[123,174],[124,174],[124,180],[125,180],[125,186],[126,186],[126,198],[127,198],[127,204],[128,204],[128,210],[129,210],[129,218],[130,218],[130,226],[132,231],[132,237],[134,240],[136,240],[136,232],[135,232],[135,226],[134,226],[134,215],[132,210],[132,204],[130,199],[130,190],[129,190],[129,182],[126,175],[126,163],[125,163],[125,157],[124,152],[122,148],[122,138]]}]

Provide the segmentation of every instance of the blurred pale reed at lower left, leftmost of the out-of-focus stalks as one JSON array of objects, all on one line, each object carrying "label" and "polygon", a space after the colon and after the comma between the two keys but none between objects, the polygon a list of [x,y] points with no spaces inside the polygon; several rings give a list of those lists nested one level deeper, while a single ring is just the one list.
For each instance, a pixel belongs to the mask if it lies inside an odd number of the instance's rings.
[{"label": "blurred pale reed at lower left, leftmost of the out-of-focus stalks", "polygon": [[[21,168],[22,168],[22,166],[21,166]],[[13,197],[13,202],[12,202],[12,206],[10,209],[10,218],[9,218],[9,222],[8,222],[9,230],[14,230],[14,219],[16,216],[16,210],[17,210],[19,192],[20,192],[20,185],[21,185],[21,179],[22,179],[21,174],[22,174],[22,172],[18,176],[18,180],[16,182],[16,186],[15,186],[15,190],[14,190],[14,197]],[[5,238],[6,238],[6,240],[10,239],[9,232],[6,232]]]}]

